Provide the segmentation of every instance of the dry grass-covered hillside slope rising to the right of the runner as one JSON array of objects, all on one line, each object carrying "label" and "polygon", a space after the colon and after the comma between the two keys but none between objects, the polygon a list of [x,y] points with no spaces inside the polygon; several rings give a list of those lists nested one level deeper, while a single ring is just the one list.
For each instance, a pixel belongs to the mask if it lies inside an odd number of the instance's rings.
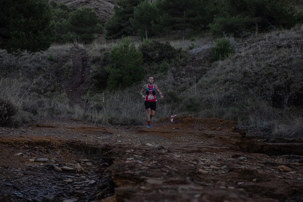
[{"label": "dry grass-covered hillside slope rising to the right of the runner", "polygon": [[295,116],[291,111],[298,112],[303,99],[302,33],[297,25],[251,37],[182,94],[184,105],[191,103],[202,117],[269,128]]}]

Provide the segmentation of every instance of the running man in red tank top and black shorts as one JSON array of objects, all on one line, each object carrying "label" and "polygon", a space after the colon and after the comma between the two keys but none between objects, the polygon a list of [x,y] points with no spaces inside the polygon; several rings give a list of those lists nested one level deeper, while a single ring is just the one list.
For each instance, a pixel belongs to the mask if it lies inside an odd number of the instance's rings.
[{"label": "running man in red tank top and black shorts", "polygon": [[[144,93],[145,91],[145,93]],[[159,90],[158,86],[154,84],[154,77],[148,77],[148,84],[144,85],[140,94],[142,98],[144,98],[144,105],[147,111],[146,119],[147,119],[147,128],[151,127],[150,120],[156,114],[156,91],[160,94],[160,98],[163,98],[161,91]]]}]

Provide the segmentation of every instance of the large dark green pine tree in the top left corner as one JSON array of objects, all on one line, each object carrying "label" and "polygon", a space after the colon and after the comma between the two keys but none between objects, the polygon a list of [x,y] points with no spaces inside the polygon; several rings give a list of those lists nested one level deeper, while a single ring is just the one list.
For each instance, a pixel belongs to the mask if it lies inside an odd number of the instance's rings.
[{"label": "large dark green pine tree in the top left corner", "polygon": [[48,0],[0,0],[0,48],[15,55],[47,50],[55,41]]}]

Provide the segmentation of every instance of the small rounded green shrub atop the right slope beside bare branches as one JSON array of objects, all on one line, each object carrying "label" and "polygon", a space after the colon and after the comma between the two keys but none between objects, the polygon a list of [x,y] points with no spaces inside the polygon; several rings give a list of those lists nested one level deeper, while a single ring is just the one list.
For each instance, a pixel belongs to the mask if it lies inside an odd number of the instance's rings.
[{"label": "small rounded green shrub atop the right slope beside bare branches", "polygon": [[235,47],[227,38],[221,38],[216,41],[216,46],[211,48],[212,60],[228,58],[229,55],[235,52]]}]

